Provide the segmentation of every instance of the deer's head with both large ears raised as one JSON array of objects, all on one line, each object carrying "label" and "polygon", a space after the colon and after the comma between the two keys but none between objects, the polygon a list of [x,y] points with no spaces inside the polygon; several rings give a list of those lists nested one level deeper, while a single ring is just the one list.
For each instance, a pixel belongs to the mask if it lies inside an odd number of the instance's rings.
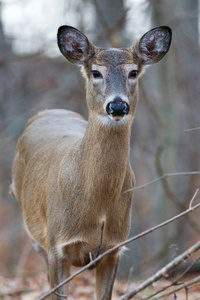
[{"label": "deer's head with both large ears raised", "polygon": [[98,48],[79,30],[61,26],[58,46],[71,63],[82,67],[90,115],[105,125],[132,120],[138,99],[138,78],[145,67],[168,52],[171,29],[154,28],[131,48]]}]

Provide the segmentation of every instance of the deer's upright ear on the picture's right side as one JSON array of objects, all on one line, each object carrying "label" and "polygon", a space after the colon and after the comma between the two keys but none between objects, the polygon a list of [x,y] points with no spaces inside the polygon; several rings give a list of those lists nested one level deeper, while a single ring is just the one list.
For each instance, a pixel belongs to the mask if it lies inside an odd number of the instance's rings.
[{"label": "deer's upright ear on the picture's right side", "polygon": [[134,51],[142,65],[159,62],[168,52],[172,31],[167,26],[156,27],[145,33],[136,43]]}]

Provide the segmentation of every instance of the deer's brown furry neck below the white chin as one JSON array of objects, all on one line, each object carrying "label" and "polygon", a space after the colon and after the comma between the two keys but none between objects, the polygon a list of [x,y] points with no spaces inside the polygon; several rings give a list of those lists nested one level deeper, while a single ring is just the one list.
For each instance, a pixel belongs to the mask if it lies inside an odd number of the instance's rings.
[{"label": "deer's brown furry neck below the white chin", "polygon": [[116,198],[129,168],[131,124],[103,126],[90,117],[82,147],[86,194],[95,199]]}]

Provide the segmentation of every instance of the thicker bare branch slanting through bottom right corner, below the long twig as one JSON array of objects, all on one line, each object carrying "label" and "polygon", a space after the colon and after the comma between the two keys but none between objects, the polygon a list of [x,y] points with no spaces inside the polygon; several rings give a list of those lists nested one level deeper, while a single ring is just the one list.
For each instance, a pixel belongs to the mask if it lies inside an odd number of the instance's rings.
[{"label": "thicker bare branch slanting through bottom right corner, below the long twig", "polygon": [[[174,269],[176,266],[181,264],[184,260],[188,259],[193,253],[195,253],[197,250],[200,249],[200,241],[193,245],[191,248],[189,248],[187,251],[176,257],[174,260],[172,260],[170,263],[168,263],[166,266],[164,266],[162,269],[157,271],[153,276],[149,277],[147,280],[145,280],[142,284],[140,284],[137,288],[131,290],[130,292],[126,293],[124,296],[120,298],[120,300],[128,300],[131,299],[133,296],[135,296],[137,293],[141,292],[142,290],[146,289],[148,286],[150,286],[153,282],[159,280],[162,277],[168,276],[169,271]],[[200,276],[198,276],[198,280],[200,280]],[[193,281],[194,283],[194,281]],[[183,288],[186,286],[186,284],[182,284]],[[180,289],[180,286],[177,287],[177,289]],[[171,293],[173,293],[171,291]],[[153,298],[153,299],[159,299],[159,298]]]}]

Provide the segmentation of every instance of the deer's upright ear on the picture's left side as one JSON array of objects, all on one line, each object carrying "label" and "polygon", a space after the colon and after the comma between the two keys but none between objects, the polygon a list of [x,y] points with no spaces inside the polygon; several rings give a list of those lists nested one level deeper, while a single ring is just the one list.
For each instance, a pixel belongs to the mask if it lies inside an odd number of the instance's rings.
[{"label": "deer's upright ear on the picture's left side", "polygon": [[83,65],[94,55],[95,47],[78,29],[61,26],[58,29],[58,47],[71,63]]}]

